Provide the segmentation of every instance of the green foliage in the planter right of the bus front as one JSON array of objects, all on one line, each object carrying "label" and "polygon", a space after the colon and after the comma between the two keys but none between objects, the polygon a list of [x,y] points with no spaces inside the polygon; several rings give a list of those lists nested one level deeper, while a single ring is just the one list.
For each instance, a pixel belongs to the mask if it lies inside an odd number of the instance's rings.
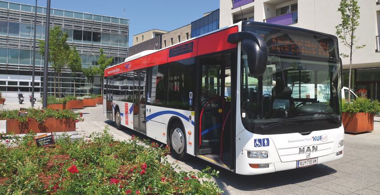
[{"label": "green foliage in the planter right of the bus front", "polygon": [[370,113],[376,115],[380,113],[380,104],[377,100],[358,97],[352,102],[342,99],[343,113]]}]

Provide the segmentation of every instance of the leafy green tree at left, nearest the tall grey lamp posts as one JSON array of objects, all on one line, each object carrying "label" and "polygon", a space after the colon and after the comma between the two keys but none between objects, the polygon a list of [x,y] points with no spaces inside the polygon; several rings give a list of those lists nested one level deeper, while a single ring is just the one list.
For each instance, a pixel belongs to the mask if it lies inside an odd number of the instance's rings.
[{"label": "leafy green tree at left, nearest the tall grey lamp posts", "polygon": [[[54,26],[49,33],[49,58],[48,62],[54,69],[54,96],[56,96],[56,74],[58,74],[58,83],[60,74],[68,63],[70,46],[66,43],[68,35],[62,32],[61,27]],[[39,53],[45,56],[45,41],[39,40]],[[47,78],[45,78],[47,79]],[[59,97],[61,97],[61,87],[59,87]]]}]

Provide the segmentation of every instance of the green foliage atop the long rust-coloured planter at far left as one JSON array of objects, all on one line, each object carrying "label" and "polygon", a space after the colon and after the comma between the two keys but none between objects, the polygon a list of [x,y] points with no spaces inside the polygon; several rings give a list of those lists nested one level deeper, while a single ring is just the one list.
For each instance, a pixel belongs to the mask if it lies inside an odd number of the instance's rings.
[{"label": "green foliage atop the long rust-coloured planter at far left", "polygon": [[28,109],[28,114],[26,116],[18,116],[18,110],[0,110],[0,119],[11,119],[15,118],[21,122],[27,122],[28,119],[35,119],[38,122],[42,123],[46,118],[71,118],[73,120],[83,121],[83,118],[80,117],[80,113],[75,113],[71,110],[52,110],[52,109],[43,109],[38,110],[34,108]]}]

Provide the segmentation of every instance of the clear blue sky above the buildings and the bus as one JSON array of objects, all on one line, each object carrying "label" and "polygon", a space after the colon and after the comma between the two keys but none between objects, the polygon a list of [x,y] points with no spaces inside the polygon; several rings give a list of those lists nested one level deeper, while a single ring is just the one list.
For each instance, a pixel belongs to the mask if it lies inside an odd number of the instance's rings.
[{"label": "clear blue sky above the buildings and the bus", "polygon": [[[46,7],[46,2],[38,0],[38,6]],[[172,31],[188,25],[203,13],[218,9],[219,0],[51,0],[50,7],[129,19],[129,46],[132,46],[134,35],[152,29]]]}]

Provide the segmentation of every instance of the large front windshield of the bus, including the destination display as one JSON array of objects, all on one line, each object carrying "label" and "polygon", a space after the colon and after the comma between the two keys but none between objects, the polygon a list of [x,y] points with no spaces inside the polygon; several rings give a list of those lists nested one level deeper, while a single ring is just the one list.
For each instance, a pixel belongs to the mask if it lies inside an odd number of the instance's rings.
[{"label": "large front windshield of the bus, including the destination display", "polygon": [[245,26],[268,46],[263,76],[251,76],[241,54],[241,119],[257,134],[307,133],[341,126],[337,39],[304,32]]}]

